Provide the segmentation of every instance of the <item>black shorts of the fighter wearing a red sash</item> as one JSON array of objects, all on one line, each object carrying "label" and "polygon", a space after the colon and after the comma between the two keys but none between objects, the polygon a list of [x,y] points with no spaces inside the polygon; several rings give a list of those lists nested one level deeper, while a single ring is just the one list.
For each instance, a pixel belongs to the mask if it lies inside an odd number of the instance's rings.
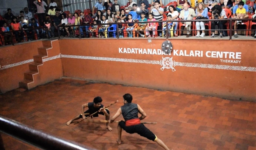
[{"label": "black shorts of the fighter wearing a red sash", "polygon": [[142,123],[134,126],[125,126],[125,121],[120,121],[118,125],[127,133],[138,133],[140,136],[146,137],[148,140],[157,140],[156,135],[153,132],[151,132],[147,127],[145,127],[144,124]]}]

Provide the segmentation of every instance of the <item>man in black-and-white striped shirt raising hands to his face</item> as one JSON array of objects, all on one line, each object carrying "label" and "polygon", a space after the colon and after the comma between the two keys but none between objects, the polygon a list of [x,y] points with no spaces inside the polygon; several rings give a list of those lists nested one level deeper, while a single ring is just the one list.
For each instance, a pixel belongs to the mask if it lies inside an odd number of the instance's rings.
[{"label": "man in black-and-white striped shirt raising hands to his face", "polygon": [[[153,16],[156,19],[156,21],[161,21],[164,18],[164,16],[163,16],[164,8],[160,7],[159,1],[155,1],[154,7],[151,6],[150,11],[148,11],[148,13],[153,13]],[[148,17],[149,17],[149,15],[148,15]],[[162,23],[159,23],[157,30],[162,30]],[[162,31],[158,31],[158,35],[159,35],[159,37],[162,37]]]}]

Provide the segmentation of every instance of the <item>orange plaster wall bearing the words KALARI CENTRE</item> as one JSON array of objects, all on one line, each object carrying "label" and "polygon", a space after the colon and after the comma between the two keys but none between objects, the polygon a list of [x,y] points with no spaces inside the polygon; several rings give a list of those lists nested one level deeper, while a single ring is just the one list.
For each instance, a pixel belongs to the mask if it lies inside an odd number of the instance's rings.
[{"label": "orange plaster wall bearing the words KALARI CENTRE", "polygon": [[[82,39],[59,40],[65,55],[162,60],[162,55],[119,53],[119,47],[161,49],[165,40]],[[203,51],[203,57],[171,56],[176,62],[256,67],[256,41],[171,40],[174,49]],[[207,58],[206,51],[242,52],[241,64],[221,63]],[[82,78],[125,85],[164,89],[237,100],[255,101],[256,72],[175,66],[176,71],[161,65],[117,61],[61,58],[66,77]],[[129,91],[125,91],[129,92]]]}]

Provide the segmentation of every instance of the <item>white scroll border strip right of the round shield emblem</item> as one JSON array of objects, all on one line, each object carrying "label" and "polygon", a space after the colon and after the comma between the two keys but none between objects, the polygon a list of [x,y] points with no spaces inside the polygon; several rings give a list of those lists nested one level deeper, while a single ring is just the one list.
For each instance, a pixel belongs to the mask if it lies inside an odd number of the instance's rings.
[{"label": "white scroll border strip right of the round shield emblem", "polygon": [[239,71],[253,71],[253,72],[256,72],[255,67],[181,63],[181,62],[176,62],[176,61],[173,61],[173,66],[174,67],[175,66],[185,66],[185,67],[199,67],[199,68],[210,68],[210,69],[224,69],[224,70],[239,70]]}]

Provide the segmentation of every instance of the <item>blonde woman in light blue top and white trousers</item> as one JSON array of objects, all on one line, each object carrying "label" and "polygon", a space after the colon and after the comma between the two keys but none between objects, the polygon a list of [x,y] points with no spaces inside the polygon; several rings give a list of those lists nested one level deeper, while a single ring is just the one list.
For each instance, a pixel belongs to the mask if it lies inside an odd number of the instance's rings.
[{"label": "blonde woman in light blue top and white trousers", "polygon": [[[201,19],[209,19],[208,17],[208,9],[205,8],[204,3],[200,2],[196,9],[196,19],[199,20],[196,22],[196,37],[205,37],[205,23],[204,21],[200,21]],[[202,30],[202,34],[200,35],[200,28]]]}]

